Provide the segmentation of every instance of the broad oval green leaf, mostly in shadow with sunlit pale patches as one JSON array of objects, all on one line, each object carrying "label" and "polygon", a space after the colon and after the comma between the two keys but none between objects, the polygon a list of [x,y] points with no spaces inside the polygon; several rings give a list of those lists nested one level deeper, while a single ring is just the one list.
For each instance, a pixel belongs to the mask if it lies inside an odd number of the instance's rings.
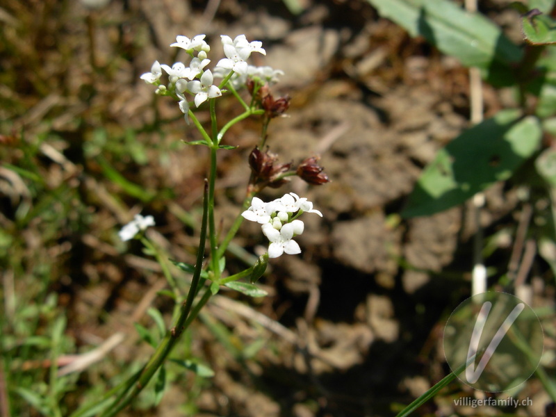
[{"label": "broad oval green leaf, mostly in shadow with sunlit pale patches", "polygon": [[448,143],[434,158],[402,211],[406,218],[432,215],[466,201],[496,181],[511,177],[541,140],[536,117],[501,111]]}]

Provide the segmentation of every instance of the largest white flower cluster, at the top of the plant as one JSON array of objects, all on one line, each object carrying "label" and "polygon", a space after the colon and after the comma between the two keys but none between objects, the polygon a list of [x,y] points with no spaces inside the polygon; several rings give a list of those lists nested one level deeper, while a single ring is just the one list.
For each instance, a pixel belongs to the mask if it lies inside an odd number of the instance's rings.
[{"label": "largest white flower cluster, at the top of the plant", "polygon": [[[222,96],[222,90],[218,85],[214,85],[214,77],[218,76],[225,79],[231,76],[231,85],[238,88],[245,85],[248,79],[259,79],[261,82],[276,81],[277,76],[283,74],[279,70],[272,70],[270,67],[254,67],[247,64],[247,58],[253,52],[266,55],[266,51],[259,41],[249,42],[245,35],[238,35],[232,40],[227,35],[221,35],[224,55],[216,66],[211,70],[205,70],[211,60],[207,58],[207,53],[211,47],[204,40],[205,35],[197,35],[193,38],[179,35],[176,42],[170,47],[184,49],[190,56],[189,66],[177,62],[170,67],[169,65],[155,61],[151,67],[151,72],[141,75],[141,79],[146,83],[157,86],[156,93],[159,95],[171,95],[179,101],[179,108],[188,120],[189,102],[186,93],[195,95],[193,101],[199,107],[207,99]],[[161,83],[161,76],[164,72],[168,75],[169,83]],[[233,72],[233,74],[231,74]]]}]

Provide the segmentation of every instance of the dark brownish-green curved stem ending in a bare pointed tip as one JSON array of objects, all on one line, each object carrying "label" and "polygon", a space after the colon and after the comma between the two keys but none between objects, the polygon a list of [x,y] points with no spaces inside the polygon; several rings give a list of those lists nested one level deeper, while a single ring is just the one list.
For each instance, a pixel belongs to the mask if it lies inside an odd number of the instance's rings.
[{"label": "dark brownish-green curved stem ending in a bare pointed tip", "polygon": [[[195,263],[195,271],[193,272],[193,278],[191,280],[191,286],[189,288],[188,296],[186,301],[181,306],[180,315],[172,329],[166,333],[161,343],[156,348],[156,352],[152,355],[149,362],[142,369],[142,372],[136,382],[133,385],[133,389],[122,398],[120,395],[115,402],[108,408],[101,417],[113,417],[118,414],[122,409],[127,407],[129,403],[136,398],[136,396],[142,391],[142,389],[147,386],[147,383],[152,378],[156,370],[161,367],[162,363],[167,358],[168,354],[172,352],[172,348],[177,343],[179,336],[186,329],[186,324],[188,325],[192,320],[188,320],[191,307],[193,306],[193,300],[197,293],[197,286],[199,285],[199,280],[201,278],[201,271],[203,268],[204,259],[204,246],[206,241],[206,229],[208,220],[208,184],[205,182],[204,187],[204,199],[203,199],[203,220],[201,223],[201,236],[199,236],[199,250],[197,252],[197,262]],[[134,382],[133,382],[134,383]],[[124,391],[127,391],[129,386],[127,386]]]}]

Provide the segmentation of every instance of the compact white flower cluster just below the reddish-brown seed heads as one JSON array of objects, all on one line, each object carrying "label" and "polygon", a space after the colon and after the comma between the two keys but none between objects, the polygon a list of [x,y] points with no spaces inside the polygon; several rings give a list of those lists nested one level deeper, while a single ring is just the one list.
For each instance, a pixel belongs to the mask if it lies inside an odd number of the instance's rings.
[{"label": "compact white flower cluster just below the reddish-brown seed heads", "polygon": [[301,253],[300,245],[292,239],[303,233],[304,224],[297,218],[304,212],[322,217],[320,211],[313,209],[313,203],[289,193],[268,203],[253,197],[250,208],[241,215],[262,224],[263,234],[270,240],[268,257],[277,258],[284,252],[291,255]]}]

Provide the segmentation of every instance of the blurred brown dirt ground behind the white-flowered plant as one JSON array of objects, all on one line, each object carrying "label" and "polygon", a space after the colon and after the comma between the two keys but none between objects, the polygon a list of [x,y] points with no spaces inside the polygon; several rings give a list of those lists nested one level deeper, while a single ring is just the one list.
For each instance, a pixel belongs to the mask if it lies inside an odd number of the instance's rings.
[{"label": "blurred brown dirt ground behind the white-flowered plant", "polygon": [[[49,117],[49,129],[67,141],[63,154],[79,170],[72,181],[95,219],[90,230],[70,236],[52,291],[67,308],[68,332],[79,348],[115,332],[126,335],[107,363],[81,377],[82,386],[111,377],[115,363],[146,359],[150,350],[138,343],[133,321],[145,320],[150,305],[165,311],[156,295],[165,285],[157,265],[140,246],[124,252],[109,237],[129,220],[122,206],[154,215],[157,227],[149,237],[174,259],[194,262],[195,236],[179,213],[199,215],[207,154],[181,146],[184,138],[197,138],[193,129],[186,130],[172,100],[154,100],[152,86],[139,76],[154,60],[174,62],[169,44],[176,35],[197,33],[213,45],[220,34],[263,41],[267,56],[253,56],[255,63],[283,70],[274,91],[291,96],[288,117],[270,124],[270,149],[282,162],[320,155],[332,182],[316,187],[294,180],[265,190],[268,199],[302,194],[322,211],[322,219],[306,216],[302,254],[272,261],[261,280],[269,297],[246,300],[230,292],[209,304],[190,336],[191,350],[215,371],[202,390],[193,377],[179,381],[157,409],[127,415],[183,416],[183,404],[191,403],[197,416],[390,416],[395,404],[408,404],[448,373],[442,322],[470,293],[476,226],[465,207],[411,220],[398,213],[436,150],[469,125],[468,71],[456,60],[409,38],[360,0],[300,1],[300,15],[279,0],[112,0],[95,10],[78,1],[9,3],[18,25],[36,27],[28,30],[31,42],[17,40],[21,26],[7,22],[6,37],[19,48],[19,60],[8,65],[18,74],[19,95],[12,98],[22,107],[3,109],[3,117],[35,134]],[[516,15],[505,11],[505,2],[481,3],[515,29]],[[484,95],[487,116],[511,104],[504,91],[485,86]],[[221,109],[226,115],[240,110],[232,100]],[[25,116],[17,118],[22,110]],[[199,112],[199,119],[208,115]],[[170,190],[171,198],[143,206],[125,196],[113,204],[106,190],[119,191],[99,179],[100,167],[83,151],[98,129],[138,131],[148,163],[124,158],[115,166],[129,181]],[[224,227],[243,199],[247,154],[258,135],[259,124],[250,120],[226,138],[239,148],[220,161],[217,214]],[[491,188],[481,219],[486,234],[514,227],[516,210],[512,184]],[[235,242],[250,253],[263,244],[250,224]],[[500,243],[490,259],[496,275],[510,252]],[[240,265],[230,262],[231,270]],[[213,322],[231,332],[236,347],[252,347],[251,357],[234,356],[218,343],[209,330]],[[524,392],[539,400],[537,409],[523,412],[542,415],[546,398],[539,384]],[[457,395],[473,393],[453,384],[418,414],[473,415],[454,410]]]}]

